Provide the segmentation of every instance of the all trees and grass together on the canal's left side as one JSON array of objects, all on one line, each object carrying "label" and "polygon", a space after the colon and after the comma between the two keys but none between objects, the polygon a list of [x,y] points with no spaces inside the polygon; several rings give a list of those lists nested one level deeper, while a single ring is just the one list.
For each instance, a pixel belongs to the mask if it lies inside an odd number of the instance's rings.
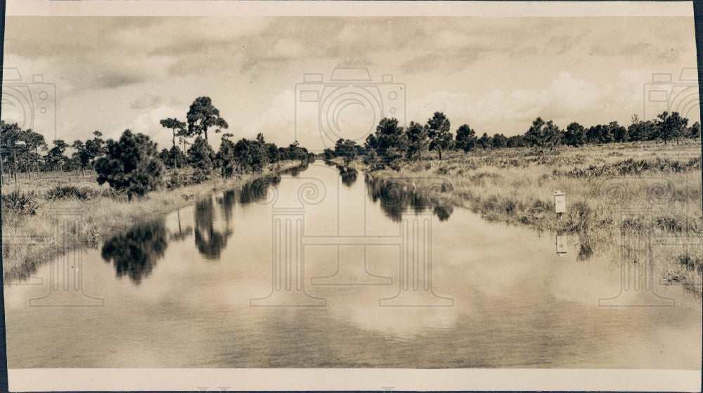
[{"label": "all trees and grass together on the canal's left side", "polygon": [[[100,131],[93,131],[92,138],[71,145],[56,140],[49,148],[41,134],[1,122],[6,277],[25,276],[27,269],[70,245],[95,247],[105,236],[192,203],[199,195],[257,179],[267,167],[280,171],[314,160],[297,142],[278,147],[263,134],[236,143],[232,134],[223,134],[215,153],[208,131],[220,132],[228,124],[208,97],[196,98],[186,117],[187,123],[176,117],[161,121],[172,140],[171,148],[161,151],[148,136],[129,129],[117,141],[105,141]],[[82,215],[57,235],[52,212],[63,210]]]}]

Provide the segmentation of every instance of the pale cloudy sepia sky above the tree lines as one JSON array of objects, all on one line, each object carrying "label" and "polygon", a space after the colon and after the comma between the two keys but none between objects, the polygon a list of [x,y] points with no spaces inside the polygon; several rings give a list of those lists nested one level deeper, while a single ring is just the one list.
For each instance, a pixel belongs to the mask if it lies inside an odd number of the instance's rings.
[{"label": "pale cloudy sepia sky above the tree lines", "polygon": [[[560,127],[629,124],[678,94],[672,110],[697,120],[697,80],[680,81],[696,66],[693,22],[8,16],[1,116],[48,141],[131,129],[167,147],[159,120],[185,120],[193,99],[209,96],[235,138],[262,132],[313,149],[337,136],[363,141],[383,116],[424,123],[435,111],[452,131],[510,136],[538,116]],[[321,82],[302,84],[305,74]],[[649,102],[653,77],[678,82],[657,84],[674,89],[667,103]]]}]

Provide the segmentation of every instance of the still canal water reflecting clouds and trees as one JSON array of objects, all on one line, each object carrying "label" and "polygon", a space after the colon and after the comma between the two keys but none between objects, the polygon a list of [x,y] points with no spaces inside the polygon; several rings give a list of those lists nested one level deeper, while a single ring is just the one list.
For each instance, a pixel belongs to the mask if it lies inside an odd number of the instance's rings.
[{"label": "still canal water reflecting clouds and trees", "polygon": [[314,163],[134,226],[5,286],[8,368],[700,369],[700,299],[446,186]]}]

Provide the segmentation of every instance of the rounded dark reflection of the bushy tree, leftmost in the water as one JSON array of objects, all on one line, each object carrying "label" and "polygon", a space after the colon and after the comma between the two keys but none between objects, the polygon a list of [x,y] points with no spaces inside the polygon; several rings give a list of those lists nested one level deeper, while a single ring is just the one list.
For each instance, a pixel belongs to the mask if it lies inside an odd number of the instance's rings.
[{"label": "rounded dark reflection of the bushy tree, leftmost in the water", "polygon": [[164,257],[168,241],[163,219],[138,224],[103,244],[101,255],[112,261],[117,277],[128,276],[136,285]]}]

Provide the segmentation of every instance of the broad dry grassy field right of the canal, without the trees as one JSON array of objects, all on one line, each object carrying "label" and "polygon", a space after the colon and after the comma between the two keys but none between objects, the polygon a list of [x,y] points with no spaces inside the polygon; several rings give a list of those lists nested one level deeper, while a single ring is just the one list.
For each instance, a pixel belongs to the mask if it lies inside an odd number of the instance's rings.
[{"label": "broad dry grassy field right of the canal, without the trees", "polygon": [[[700,141],[562,147],[542,154],[528,148],[453,151],[443,158],[423,157],[368,176],[434,189],[429,199],[445,209],[464,207],[487,220],[568,235],[581,259],[626,247],[621,255],[638,262],[646,244],[669,240],[654,257],[658,274],[700,295]],[[359,160],[352,165],[363,167]],[[556,191],[565,193],[565,213],[555,213]]]}]

